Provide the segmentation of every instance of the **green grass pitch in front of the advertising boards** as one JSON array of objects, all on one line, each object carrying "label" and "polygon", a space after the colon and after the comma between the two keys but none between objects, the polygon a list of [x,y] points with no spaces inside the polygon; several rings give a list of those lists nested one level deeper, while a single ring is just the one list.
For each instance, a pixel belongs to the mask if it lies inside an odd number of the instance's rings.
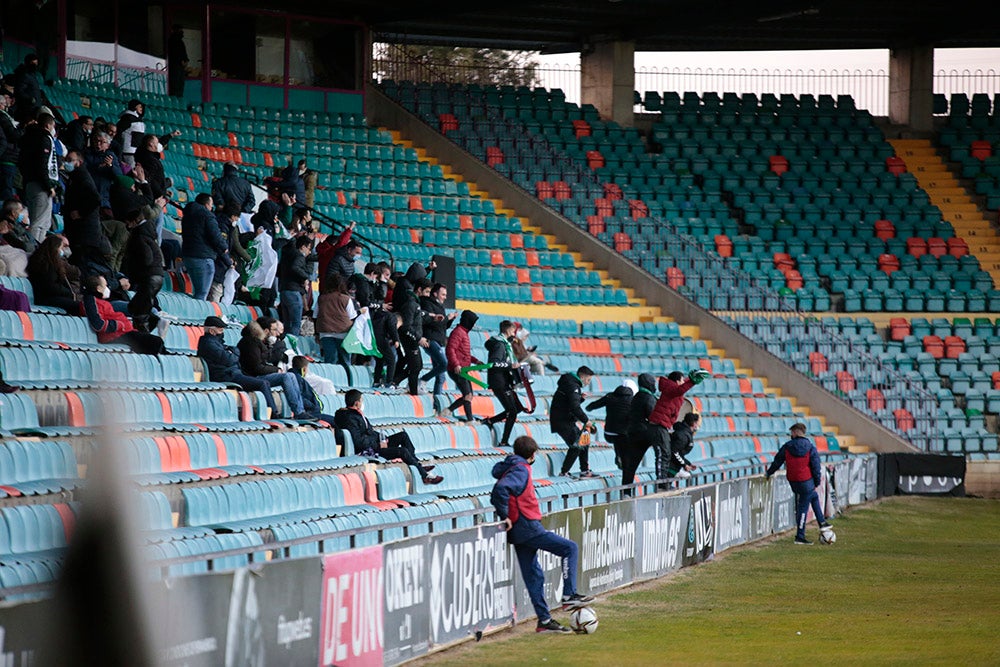
[{"label": "green grass pitch in front of the advertising boards", "polygon": [[593,635],[524,623],[421,662],[1000,664],[1000,501],[891,498],[834,525],[830,547],[783,535],[606,595]]}]

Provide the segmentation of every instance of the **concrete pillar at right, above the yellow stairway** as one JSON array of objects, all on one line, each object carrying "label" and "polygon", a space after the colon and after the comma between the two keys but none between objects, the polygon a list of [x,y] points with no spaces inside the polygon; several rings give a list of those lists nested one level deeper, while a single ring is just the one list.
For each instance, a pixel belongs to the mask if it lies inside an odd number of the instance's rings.
[{"label": "concrete pillar at right, above the yellow stairway", "polygon": [[889,53],[889,121],[929,132],[934,112],[934,49],[915,46]]}]

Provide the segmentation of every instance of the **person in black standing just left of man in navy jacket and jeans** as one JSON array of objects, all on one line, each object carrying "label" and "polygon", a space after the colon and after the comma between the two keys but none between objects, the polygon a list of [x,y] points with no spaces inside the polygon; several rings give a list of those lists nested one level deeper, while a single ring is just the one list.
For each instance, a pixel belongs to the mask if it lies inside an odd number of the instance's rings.
[{"label": "person in black standing just left of man in navy jacket and jeans", "polygon": [[156,307],[156,295],[163,288],[163,253],[156,242],[153,221],[141,211],[131,211],[125,218],[130,231],[122,268],[135,290],[128,305],[132,324],[136,331],[146,332],[155,326],[150,317]]}]

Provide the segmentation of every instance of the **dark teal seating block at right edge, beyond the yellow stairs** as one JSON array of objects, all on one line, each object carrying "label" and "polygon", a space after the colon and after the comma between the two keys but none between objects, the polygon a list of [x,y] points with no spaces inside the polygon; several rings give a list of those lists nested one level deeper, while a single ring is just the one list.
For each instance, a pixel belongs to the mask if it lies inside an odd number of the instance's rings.
[{"label": "dark teal seating block at right edge, beyond the yellow stairs", "polygon": [[964,93],[951,96],[947,125],[939,141],[952,162],[961,164],[964,178],[975,179],[976,193],[986,198],[986,208],[1000,209],[1000,95],[991,101],[985,93],[972,100]]}]

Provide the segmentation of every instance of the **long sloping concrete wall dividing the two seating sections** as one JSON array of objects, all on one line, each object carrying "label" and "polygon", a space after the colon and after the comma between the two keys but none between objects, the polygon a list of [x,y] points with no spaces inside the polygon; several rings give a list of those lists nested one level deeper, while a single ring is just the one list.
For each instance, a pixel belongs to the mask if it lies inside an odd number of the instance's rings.
[{"label": "long sloping concrete wall dividing the two seating sections", "polygon": [[466,180],[501,199],[507,208],[530,219],[546,234],[558,237],[562,243],[579,252],[583,259],[633,288],[637,296],[646,299],[650,305],[658,306],[665,315],[679,324],[699,327],[703,339],[712,341],[714,347],[724,349],[727,356],[738,357],[742,365],[752,369],[755,375],[767,377],[770,386],[779,388],[787,396],[794,396],[813,413],[823,415],[827,424],[836,426],[841,433],[853,435],[857,444],[867,445],[876,452],[916,451],[892,431],[827,392],[710,312],[680,296],[667,287],[663,276],[653,276],[633,264],[428,127],[376,88],[369,86],[366,92],[369,122],[399,130],[430,155],[450,165]]}]

